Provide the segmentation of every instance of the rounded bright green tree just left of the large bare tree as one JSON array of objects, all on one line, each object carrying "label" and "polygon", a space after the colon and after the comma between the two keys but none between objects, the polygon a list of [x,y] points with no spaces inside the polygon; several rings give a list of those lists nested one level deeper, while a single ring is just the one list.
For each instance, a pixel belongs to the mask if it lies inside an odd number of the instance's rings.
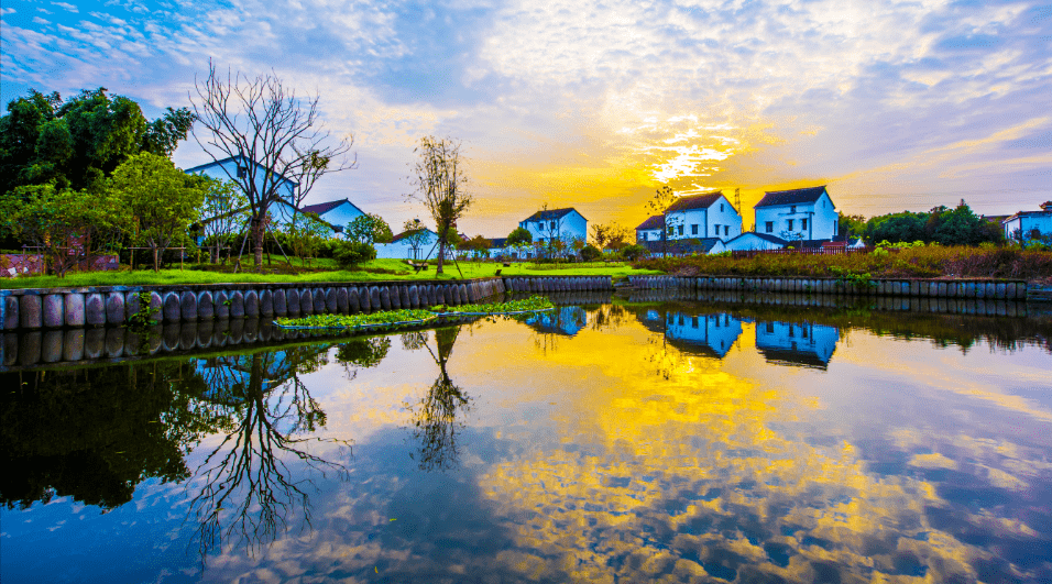
[{"label": "rounded bright green tree just left of the large bare tree", "polygon": [[160,272],[160,252],[197,220],[208,185],[164,156],[142,152],[113,172],[109,187],[131,214],[132,241],[150,247],[153,269]]}]

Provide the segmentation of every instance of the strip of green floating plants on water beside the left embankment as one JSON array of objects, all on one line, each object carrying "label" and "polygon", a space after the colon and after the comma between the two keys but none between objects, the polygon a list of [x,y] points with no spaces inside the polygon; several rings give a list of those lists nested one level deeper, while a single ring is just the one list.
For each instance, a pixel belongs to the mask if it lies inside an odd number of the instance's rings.
[{"label": "strip of green floating plants on water beside the left embankment", "polygon": [[369,315],[310,315],[303,318],[278,318],[274,324],[283,329],[375,330],[414,327],[443,317],[522,315],[555,308],[544,296],[492,305],[432,306],[427,309],[382,310]]}]

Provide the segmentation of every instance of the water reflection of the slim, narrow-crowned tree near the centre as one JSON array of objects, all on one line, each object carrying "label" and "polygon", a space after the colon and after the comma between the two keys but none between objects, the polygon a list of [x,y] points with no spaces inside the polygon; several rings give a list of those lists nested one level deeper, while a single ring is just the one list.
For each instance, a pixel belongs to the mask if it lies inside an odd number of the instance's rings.
[{"label": "water reflection of the slim, narrow-crowned tree near the centre", "polygon": [[457,440],[463,422],[457,420],[457,415],[470,408],[471,398],[449,378],[446,370],[459,333],[460,327],[436,330],[437,354],[426,342],[420,342],[418,337],[409,339],[408,342],[403,339],[403,344],[420,343],[426,348],[439,368],[438,378],[420,401],[415,406],[407,405],[413,415],[413,437],[419,442],[419,450],[414,459],[421,471],[447,471],[456,469],[460,463]]}]

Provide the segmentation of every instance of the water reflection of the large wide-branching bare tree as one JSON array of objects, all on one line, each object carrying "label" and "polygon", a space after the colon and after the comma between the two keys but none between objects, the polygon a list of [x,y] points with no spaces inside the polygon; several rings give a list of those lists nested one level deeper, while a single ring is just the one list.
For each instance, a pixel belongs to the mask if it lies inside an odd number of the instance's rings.
[{"label": "water reflection of the large wide-branching bare tree", "polygon": [[250,553],[288,528],[298,509],[310,527],[309,478],[296,478],[289,463],[306,469],[346,469],[313,454],[311,442],[347,441],[309,436],[325,427],[326,415],[300,375],[326,364],[327,346],[307,345],[208,360],[202,375],[209,397],[229,408],[230,425],[220,444],[197,469],[204,486],[191,499],[188,518],[198,522],[201,561],[209,550],[244,544]]}]

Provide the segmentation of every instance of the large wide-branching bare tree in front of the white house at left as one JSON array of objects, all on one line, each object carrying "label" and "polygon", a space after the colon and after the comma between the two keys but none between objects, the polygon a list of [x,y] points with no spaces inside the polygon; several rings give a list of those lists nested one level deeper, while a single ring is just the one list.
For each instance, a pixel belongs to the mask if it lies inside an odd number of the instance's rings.
[{"label": "large wide-branching bare tree in front of the white house at left", "polygon": [[194,137],[213,161],[237,162],[222,168],[248,199],[255,265],[262,268],[271,206],[284,199],[295,214],[322,175],[355,168],[357,158],[348,158],[353,137],[329,145],[318,96],[297,97],[273,71],[250,79],[228,69],[223,78],[209,62],[208,78],[194,87],[198,99],[191,95],[190,101],[204,129],[195,128]]}]

